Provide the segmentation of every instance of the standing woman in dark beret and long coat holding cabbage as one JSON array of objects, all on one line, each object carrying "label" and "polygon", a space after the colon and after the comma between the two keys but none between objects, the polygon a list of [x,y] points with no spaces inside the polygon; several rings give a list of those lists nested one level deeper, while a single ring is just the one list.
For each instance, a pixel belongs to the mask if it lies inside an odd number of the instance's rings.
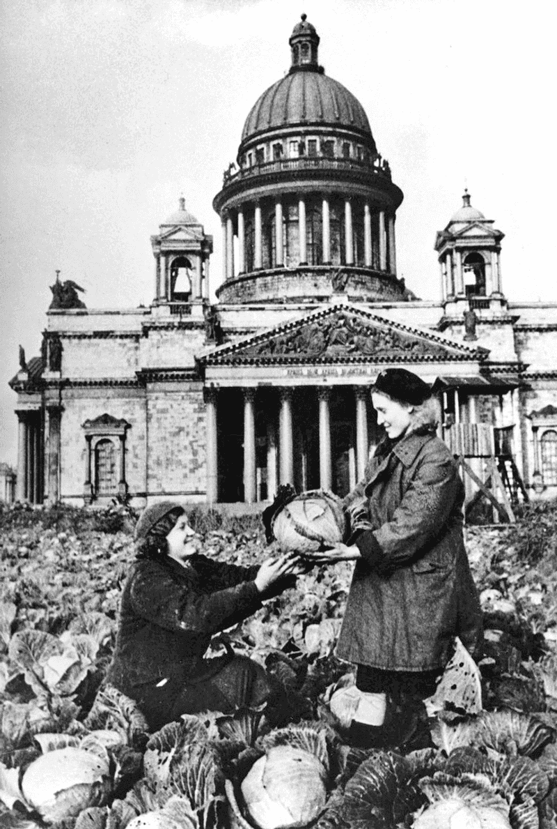
[{"label": "standing woman in dark beret and long coat holding cabbage", "polygon": [[[357,666],[358,709],[350,741],[427,744],[423,700],[459,636],[469,652],[482,637],[478,591],[463,543],[463,483],[436,437],[437,401],[406,369],[372,386],[386,436],[365,477],[344,499],[348,545],[323,560],[356,560],[337,655]],[[422,727],[420,728],[420,723]]]}]

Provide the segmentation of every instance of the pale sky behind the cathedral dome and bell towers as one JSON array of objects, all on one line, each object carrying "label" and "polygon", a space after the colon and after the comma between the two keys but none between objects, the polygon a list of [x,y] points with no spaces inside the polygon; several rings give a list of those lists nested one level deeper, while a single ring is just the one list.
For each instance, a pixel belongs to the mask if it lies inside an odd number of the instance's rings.
[{"label": "pale sky behind the cathedral dome and bell towers", "polygon": [[17,346],[39,353],[55,269],[89,308],[151,302],[150,235],[211,202],[242,124],[290,66],[306,12],[319,62],[362,102],[405,200],[399,275],[439,298],[435,232],[473,206],[506,234],[511,299],[557,301],[555,2],[0,0],[0,460],[15,463]]}]

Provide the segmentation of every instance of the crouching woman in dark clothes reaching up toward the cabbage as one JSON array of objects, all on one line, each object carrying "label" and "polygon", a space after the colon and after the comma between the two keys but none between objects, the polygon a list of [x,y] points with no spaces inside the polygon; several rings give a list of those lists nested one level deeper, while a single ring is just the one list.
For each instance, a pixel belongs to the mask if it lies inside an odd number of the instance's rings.
[{"label": "crouching woman in dark clothes reaching up toward the cabbage", "polygon": [[238,567],[199,555],[199,536],[174,502],[147,507],[135,540],[108,681],[137,701],[152,730],[182,714],[261,705],[269,692],[261,666],[204,653],[214,633],[291,586],[295,558]]}]

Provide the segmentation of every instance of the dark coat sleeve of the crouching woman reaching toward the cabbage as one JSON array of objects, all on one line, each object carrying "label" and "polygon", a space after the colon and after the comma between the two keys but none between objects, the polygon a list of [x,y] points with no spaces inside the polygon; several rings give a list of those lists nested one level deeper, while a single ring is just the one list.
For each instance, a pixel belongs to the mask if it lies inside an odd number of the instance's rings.
[{"label": "dark coat sleeve of the crouching woman reaching toward the cabbage", "polygon": [[166,630],[201,636],[230,628],[262,606],[253,581],[201,593],[193,582],[178,581],[171,571],[151,562],[132,576],[129,595],[135,612],[149,622]]}]

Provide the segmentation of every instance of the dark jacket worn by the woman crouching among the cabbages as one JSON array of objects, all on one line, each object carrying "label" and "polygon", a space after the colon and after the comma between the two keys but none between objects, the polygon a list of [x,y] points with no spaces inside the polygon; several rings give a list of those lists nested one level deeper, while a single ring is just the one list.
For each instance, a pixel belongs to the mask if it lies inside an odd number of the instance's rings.
[{"label": "dark jacket worn by the woman crouching among the cabbages", "polygon": [[122,592],[118,636],[108,681],[137,699],[142,687],[203,681],[222,662],[204,660],[214,633],[261,607],[258,567],[192,555],[183,567],[168,556],[132,565]]}]

